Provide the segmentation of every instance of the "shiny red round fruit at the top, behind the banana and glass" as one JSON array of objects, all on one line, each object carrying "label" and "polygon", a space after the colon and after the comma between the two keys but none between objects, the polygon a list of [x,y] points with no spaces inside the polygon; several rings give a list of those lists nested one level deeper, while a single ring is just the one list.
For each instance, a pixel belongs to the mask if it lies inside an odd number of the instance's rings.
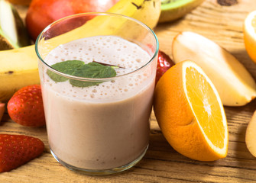
[{"label": "shiny red round fruit at the top, behind the banana and glass", "polygon": [[32,0],[25,18],[32,40],[53,21],[72,14],[105,12],[119,0]]}]

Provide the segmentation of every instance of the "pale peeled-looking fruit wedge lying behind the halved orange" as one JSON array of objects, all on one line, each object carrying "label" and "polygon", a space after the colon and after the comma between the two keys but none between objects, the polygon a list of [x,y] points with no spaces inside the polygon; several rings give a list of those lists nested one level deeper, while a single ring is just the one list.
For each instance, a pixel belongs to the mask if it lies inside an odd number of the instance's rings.
[{"label": "pale peeled-looking fruit wedge lying behind the halved orange", "polygon": [[256,97],[256,84],[235,56],[202,35],[183,31],[173,39],[173,61],[191,59],[209,76],[225,106],[242,106]]}]

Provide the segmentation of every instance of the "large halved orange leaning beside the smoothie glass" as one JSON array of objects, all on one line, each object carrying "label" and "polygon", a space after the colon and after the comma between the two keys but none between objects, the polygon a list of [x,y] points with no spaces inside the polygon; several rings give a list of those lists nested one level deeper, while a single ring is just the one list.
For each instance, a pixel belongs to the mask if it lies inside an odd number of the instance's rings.
[{"label": "large halved orange leaning beside the smoothie glass", "polygon": [[199,161],[227,156],[222,101],[196,63],[186,60],[164,73],[154,93],[154,114],[164,137],[183,156]]}]

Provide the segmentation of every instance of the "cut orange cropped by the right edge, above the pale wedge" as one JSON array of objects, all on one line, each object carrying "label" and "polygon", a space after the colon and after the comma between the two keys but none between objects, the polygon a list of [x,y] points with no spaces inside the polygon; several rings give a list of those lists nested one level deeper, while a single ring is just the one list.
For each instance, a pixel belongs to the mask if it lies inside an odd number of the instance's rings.
[{"label": "cut orange cropped by the right edge, above the pale wedge", "polygon": [[248,55],[256,63],[256,11],[251,11],[245,18],[244,40]]}]

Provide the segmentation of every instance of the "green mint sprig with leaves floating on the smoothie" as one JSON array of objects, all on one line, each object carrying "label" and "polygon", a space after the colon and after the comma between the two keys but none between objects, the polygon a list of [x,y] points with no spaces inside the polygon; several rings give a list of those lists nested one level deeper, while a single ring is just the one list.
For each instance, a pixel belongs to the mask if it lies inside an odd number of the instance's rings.
[{"label": "green mint sprig with leaves floating on the smoothie", "polygon": [[[114,68],[116,68],[117,66],[105,66],[105,64],[103,65],[95,61],[85,64],[81,60],[66,60],[61,63],[55,63],[51,67],[59,72],[63,72],[68,75],[83,78],[103,79],[115,77],[116,72]],[[49,75],[50,79],[53,79],[54,82],[66,82],[67,80],[70,80],[69,82],[71,85],[81,88],[89,87],[92,85],[99,85],[100,83],[102,83],[68,79],[50,71],[49,69],[47,70],[47,75]]]}]

